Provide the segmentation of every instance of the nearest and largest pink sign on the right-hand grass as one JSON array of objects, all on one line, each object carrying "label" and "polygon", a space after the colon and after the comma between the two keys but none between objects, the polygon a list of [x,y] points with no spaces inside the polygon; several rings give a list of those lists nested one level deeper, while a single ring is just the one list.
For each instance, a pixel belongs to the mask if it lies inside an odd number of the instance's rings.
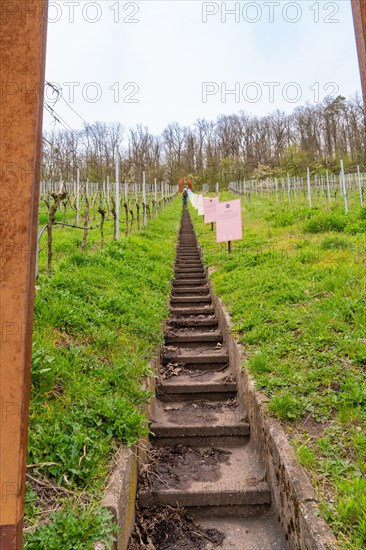
[{"label": "nearest and largest pink sign on the right-hand grass", "polygon": [[243,238],[240,199],[216,205],[216,241],[240,241]]}]

